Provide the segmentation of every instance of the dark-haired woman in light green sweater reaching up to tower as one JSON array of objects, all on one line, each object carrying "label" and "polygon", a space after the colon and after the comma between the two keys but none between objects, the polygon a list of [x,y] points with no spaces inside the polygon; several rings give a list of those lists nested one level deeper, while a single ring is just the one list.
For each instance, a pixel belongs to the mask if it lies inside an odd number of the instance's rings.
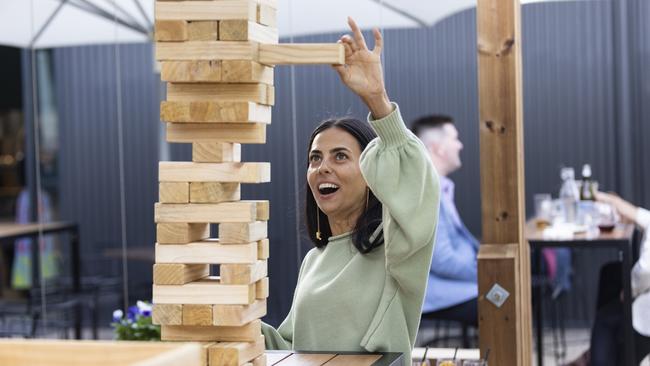
[{"label": "dark-haired woman in light green sweater reaching up to tower", "polygon": [[[307,168],[307,229],[291,310],[268,349],[403,352],[415,341],[438,218],[436,172],[384,88],[382,37],[370,51],[348,19],[341,80],[370,109],[368,123],[323,122]],[[378,138],[375,138],[375,133]]]}]

